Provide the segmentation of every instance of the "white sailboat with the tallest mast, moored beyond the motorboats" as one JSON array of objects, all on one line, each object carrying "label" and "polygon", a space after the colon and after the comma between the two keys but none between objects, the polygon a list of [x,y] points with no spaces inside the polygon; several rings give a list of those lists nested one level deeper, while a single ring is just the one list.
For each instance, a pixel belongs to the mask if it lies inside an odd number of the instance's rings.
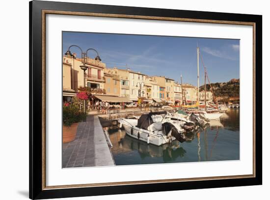
[{"label": "white sailboat with the tallest mast, moored beyond the motorboats", "polygon": [[[200,50],[199,47],[197,47],[197,87],[198,87],[198,95],[197,95],[197,110],[189,110],[187,111],[187,113],[191,113],[191,114],[195,114],[197,116],[199,116],[200,118],[203,118],[205,120],[219,120],[220,117],[222,116],[223,113],[220,113],[218,110],[218,106],[216,105],[216,109],[211,109],[211,111],[207,110],[207,104],[206,104],[206,77],[208,78],[207,72],[206,72],[206,68],[204,66],[204,91],[205,91],[205,110],[200,110],[200,106],[199,106],[199,77],[200,77],[200,73],[199,73],[199,55],[200,55]],[[203,64],[204,65],[204,64]],[[210,87],[211,87],[211,83],[210,80],[208,78]],[[211,91],[212,94],[214,96],[214,92],[213,89],[211,87]],[[215,96],[214,96],[214,100],[215,100]],[[216,100],[215,100],[216,101]],[[215,102],[216,103],[216,102]]]}]

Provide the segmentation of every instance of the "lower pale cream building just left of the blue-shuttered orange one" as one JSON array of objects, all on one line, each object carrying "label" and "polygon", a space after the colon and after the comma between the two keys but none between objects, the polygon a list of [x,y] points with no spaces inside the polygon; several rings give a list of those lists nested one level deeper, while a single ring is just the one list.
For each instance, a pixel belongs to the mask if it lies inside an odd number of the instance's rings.
[{"label": "lower pale cream building just left of the blue-shuttered orange one", "polygon": [[146,98],[147,99],[159,99],[160,98],[160,86],[158,81],[151,76],[145,76],[146,86]]}]

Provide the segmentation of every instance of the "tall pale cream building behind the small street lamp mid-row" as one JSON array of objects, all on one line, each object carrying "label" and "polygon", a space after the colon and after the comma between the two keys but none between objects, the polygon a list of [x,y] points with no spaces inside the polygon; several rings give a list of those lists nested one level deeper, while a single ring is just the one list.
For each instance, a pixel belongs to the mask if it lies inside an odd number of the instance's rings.
[{"label": "tall pale cream building behind the small street lamp mid-row", "polygon": [[[145,75],[141,74],[140,72],[129,71],[129,81],[130,81],[130,99],[133,101],[137,101],[139,97],[139,84],[142,82],[145,84]],[[145,85],[141,87],[141,97],[146,97],[146,87]]]}]

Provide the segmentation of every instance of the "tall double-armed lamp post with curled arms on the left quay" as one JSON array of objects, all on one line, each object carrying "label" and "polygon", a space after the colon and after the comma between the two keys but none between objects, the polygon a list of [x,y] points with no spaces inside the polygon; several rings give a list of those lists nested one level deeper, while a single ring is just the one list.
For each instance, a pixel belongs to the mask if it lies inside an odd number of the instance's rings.
[{"label": "tall double-armed lamp post with curled arms on the left quay", "polygon": [[[81,50],[81,63],[82,65],[80,65],[81,70],[83,70],[83,87],[85,87],[85,71],[88,69],[88,67],[85,65],[87,63],[87,52],[88,50],[93,50],[96,52],[97,56],[95,57],[95,60],[99,60],[101,61],[100,57],[99,57],[99,53],[97,50],[89,48],[87,49],[85,52],[82,51],[81,47],[77,46],[77,45],[71,45],[68,50],[65,52],[65,55],[70,56],[71,58],[75,58],[75,56],[70,52],[70,48],[72,47],[77,47]],[[83,100],[83,112],[85,113],[85,100]]]}]

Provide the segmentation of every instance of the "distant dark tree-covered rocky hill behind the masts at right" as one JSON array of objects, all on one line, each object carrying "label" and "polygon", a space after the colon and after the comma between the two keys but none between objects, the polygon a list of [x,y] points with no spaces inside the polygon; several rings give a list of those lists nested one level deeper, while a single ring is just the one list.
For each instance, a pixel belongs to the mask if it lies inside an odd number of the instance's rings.
[{"label": "distant dark tree-covered rocky hill behind the masts at right", "polygon": [[[239,97],[240,78],[233,78],[228,82],[211,83],[216,97]],[[210,84],[206,84],[206,90],[210,91]],[[200,86],[200,91],[204,91],[204,85]]]}]

